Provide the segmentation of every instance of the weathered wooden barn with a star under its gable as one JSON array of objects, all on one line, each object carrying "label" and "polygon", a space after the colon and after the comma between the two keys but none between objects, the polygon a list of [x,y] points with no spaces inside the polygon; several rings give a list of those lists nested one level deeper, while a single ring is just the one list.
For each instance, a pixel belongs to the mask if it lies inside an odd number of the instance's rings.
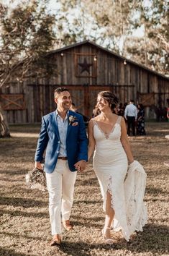
[{"label": "weathered wooden barn with a star under its gable", "polygon": [[155,108],[163,109],[169,101],[169,78],[125,59],[88,40],[50,51],[55,76],[30,77],[1,88],[1,106],[10,124],[40,122],[55,109],[53,91],[64,86],[73,95],[78,112],[91,116],[96,95],[111,90],[119,103],[133,99],[143,103],[147,119],[155,118]]}]

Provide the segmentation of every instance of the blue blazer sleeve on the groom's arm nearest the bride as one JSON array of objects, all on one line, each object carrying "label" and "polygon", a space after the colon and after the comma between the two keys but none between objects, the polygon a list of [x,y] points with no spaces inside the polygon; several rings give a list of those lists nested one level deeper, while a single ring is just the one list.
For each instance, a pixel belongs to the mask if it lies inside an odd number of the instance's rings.
[{"label": "blue blazer sleeve on the groom's arm nearest the bride", "polygon": [[79,134],[78,134],[78,161],[88,161],[88,138],[86,135],[86,127],[83,121],[83,116],[79,115]]}]

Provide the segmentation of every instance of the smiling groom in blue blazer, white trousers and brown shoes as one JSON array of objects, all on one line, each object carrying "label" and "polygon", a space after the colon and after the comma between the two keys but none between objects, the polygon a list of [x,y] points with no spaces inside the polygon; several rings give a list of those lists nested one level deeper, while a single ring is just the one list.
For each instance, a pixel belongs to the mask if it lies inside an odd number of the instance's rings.
[{"label": "smiling groom in blue blazer, white trousers and brown shoes", "polygon": [[61,243],[63,226],[73,229],[69,221],[73,205],[76,174],[86,168],[87,145],[83,116],[70,111],[71,96],[67,88],[57,88],[54,93],[57,109],[42,117],[40,137],[35,153],[35,167],[42,168],[45,153],[49,212],[52,229],[50,245]]}]

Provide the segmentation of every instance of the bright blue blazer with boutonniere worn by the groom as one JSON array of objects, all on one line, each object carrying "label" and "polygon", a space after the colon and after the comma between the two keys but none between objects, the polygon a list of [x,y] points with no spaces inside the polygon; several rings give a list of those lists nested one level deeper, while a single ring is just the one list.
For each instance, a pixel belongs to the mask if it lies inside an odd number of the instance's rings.
[{"label": "bright blue blazer with boutonniere worn by the groom", "polygon": [[[74,166],[76,162],[81,160],[88,161],[88,139],[86,136],[83,116],[73,111],[68,111],[68,116],[76,116],[75,122],[78,122],[78,125],[76,126],[73,126],[72,123],[68,124],[66,137],[68,166],[70,171],[76,171]],[[51,174],[55,169],[60,150],[60,137],[55,111],[42,117],[42,125],[40,137],[37,142],[35,161],[40,162],[43,160],[45,150],[44,170],[48,174]]]}]

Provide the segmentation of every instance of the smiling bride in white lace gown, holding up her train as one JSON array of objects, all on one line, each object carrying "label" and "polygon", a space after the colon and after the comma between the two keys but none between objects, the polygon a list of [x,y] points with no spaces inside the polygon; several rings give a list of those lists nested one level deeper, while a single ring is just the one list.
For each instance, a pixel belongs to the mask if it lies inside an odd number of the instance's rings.
[{"label": "smiling bride in white lace gown, holding up her train", "polygon": [[146,174],[140,163],[134,161],[124,118],[114,114],[117,103],[113,93],[100,92],[97,106],[101,114],[88,124],[88,160],[93,155],[93,168],[104,200],[102,234],[106,244],[114,242],[112,223],[114,231],[122,230],[127,241],[147,223],[143,202]]}]

